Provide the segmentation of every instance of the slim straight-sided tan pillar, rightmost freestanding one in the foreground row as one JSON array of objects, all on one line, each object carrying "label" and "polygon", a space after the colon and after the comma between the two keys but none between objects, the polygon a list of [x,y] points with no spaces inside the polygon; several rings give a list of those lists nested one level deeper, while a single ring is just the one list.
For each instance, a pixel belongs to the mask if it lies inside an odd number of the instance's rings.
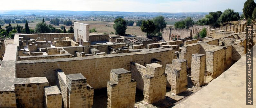
[{"label": "slim straight-sided tan pillar, rightmost freestanding one in the foreground row", "polygon": [[196,87],[204,84],[204,73],[206,56],[204,54],[193,54],[191,60],[191,80]]}]

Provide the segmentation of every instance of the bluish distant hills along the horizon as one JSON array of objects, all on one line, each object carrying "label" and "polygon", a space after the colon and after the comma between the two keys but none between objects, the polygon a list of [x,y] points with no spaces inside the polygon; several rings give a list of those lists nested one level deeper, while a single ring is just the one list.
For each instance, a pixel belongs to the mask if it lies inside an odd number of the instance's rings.
[{"label": "bluish distant hills along the horizon", "polygon": [[113,12],[113,11],[57,11],[57,10],[0,10],[0,15],[135,15],[135,16],[192,16],[205,15],[208,12],[195,13],[148,13],[148,12]]}]

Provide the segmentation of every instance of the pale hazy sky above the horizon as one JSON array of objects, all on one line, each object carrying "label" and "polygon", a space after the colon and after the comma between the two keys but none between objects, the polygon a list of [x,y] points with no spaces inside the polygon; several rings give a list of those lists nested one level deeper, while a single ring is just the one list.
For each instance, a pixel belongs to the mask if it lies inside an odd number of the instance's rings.
[{"label": "pale hazy sky above the horizon", "polygon": [[1,0],[0,10],[242,12],[246,0]]}]

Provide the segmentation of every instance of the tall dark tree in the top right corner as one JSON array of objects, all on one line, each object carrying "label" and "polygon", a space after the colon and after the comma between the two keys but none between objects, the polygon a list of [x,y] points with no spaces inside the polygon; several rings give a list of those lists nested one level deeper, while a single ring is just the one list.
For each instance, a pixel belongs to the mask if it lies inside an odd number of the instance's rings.
[{"label": "tall dark tree in the top right corner", "polygon": [[256,7],[256,4],[254,0],[247,0],[243,5],[243,14],[246,20],[249,18],[252,18],[252,12],[254,8]]}]

